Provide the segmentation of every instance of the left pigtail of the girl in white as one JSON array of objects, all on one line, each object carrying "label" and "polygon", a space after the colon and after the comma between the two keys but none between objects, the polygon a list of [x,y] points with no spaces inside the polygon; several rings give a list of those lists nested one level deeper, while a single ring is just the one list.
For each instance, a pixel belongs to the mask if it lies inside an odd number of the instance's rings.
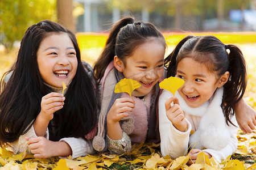
[{"label": "left pigtail of the girl in white", "polygon": [[183,44],[188,40],[191,39],[192,35],[186,36],[184,37],[179,44],[176,45],[175,49],[172,51],[171,54],[169,54],[168,57],[166,57],[164,59],[164,66],[167,67],[167,77],[170,76],[175,76],[176,75],[176,69],[177,69],[177,62],[176,62],[176,58],[177,58],[177,54],[179,54],[180,48],[181,46],[183,46]]}]

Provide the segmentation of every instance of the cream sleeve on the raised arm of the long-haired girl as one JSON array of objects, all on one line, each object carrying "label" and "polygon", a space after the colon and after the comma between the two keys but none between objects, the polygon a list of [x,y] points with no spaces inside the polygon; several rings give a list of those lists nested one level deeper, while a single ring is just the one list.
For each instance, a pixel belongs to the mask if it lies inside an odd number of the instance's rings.
[{"label": "cream sleeve on the raised arm of the long-haired girl", "polygon": [[[35,133],[34,126],[32,125],[31,128],[27,131],[27,133],[20,135],[19,139],[15,142],[7,143],[6,149],[14,152],[14,154],[19,154],[24,151],[27,151],[28,154],[31,154],[31,150],[27,145],[26,137],[38,137]],[[49,131],[48,128],[46,130],[46,134],[44,135],[45,138],[49,139]]]}]

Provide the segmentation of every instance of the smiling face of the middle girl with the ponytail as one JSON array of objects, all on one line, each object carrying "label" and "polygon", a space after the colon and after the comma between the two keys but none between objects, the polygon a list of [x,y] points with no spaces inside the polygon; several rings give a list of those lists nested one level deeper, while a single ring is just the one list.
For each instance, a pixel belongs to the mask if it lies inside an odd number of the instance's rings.
[{"label": "smiling face of the middle girl with the ponytail", "polygon": [[165,46],[158,40],[151,40],[134,49],[123,63],[117,56],[114,65],[125,78],[137,80],[141,87],[133,91],[133,96],[147,95],[163,76]]}]

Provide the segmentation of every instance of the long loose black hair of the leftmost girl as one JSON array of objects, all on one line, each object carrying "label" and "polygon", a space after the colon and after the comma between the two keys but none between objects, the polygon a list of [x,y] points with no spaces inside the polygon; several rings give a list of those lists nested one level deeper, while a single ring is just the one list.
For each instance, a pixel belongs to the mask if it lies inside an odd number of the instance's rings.
[{"label": "long loose black hair of the leftmost girl", "polygon": [[[53,113],[49,122],[49,139],[59,141],[64,137],[84,137],[96,125],[97,86],[93,84],[94,78],[85,71],[76,36],[58,23],[43,20],[27,29],[16,62],[1,79],[1,146],[16,141],[31,128],[40,113],[42,97],[53,91],[40,76],[36,59],[40,43],[52,33],[67,33],[71,39],[76,50],[77,71],[65,93],[64,107]],[[11,76],[5,83],[8,74]]]}]

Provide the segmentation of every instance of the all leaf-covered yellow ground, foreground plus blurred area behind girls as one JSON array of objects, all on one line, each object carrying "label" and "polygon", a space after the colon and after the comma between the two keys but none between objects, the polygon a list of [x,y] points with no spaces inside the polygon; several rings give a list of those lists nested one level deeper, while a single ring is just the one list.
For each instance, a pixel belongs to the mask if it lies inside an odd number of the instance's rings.
[{"label": "all leaf-covered yellow ground, foreground plus blurred area behind girls", "polygon": [[[225,36],[225,35],[224,35]],[[236,43],[245,40],[244,36],[233,36],[232,39]],[[248,66],[248,84],[246,94],[244,96],[246,102],[256,109],[256,53],[255,51],[255,34],[251,39],[251,43],[240,43],[240,46]],[[93,65],[94,61],[101,52],[102,46],[105,43],[106,35],[85,36],[86,40],[80,39],[80,47],[82,59]],[[170,41],[179,41],[180,37],[168,37]],[[225,36],[228,37],[228,36]],[[251,36],[246,36],[251,38]],[[219,37],[220,38],[220,37]],[[246,39],[247,39],[246,38]],[[221,38],[220,38],[221,39]],[[238,41],[239,39],[239,41]],[[225,40],[227,44],[232,44]],[[84,42],[84,43],[82,43]],[[86,42],[86,43],[85,43]],[[225,44],[226,44],[225,43]],[[167,43],[168,44],[168,43]],[[176,44],[176,43],[175,43]],[[168,44],[168,52],[173,49],[174,44]],[[0,76],[9,69],[15,61],[18,50],[14,49],[11,53],[6,53],[3,46],[0,45]],[[251,134],[244,134],[241,130],[237,133],[238,147],[233,155],[230,155],[222,163],[216,162],[213,158],[208,158],[204,154],[200,154],[195,164],[188,167],[186,164],[189,156],[181,156],[175,160],[165,157],[160,154],[159,144],[141,143],[133,145],[129,155],[112,155],[109,152],[97,153],[95,155],[87,155],[77,159],[58,157],[51,159],[35,159],[33,155],[21,153],[14,155],[5,149],[0,153],[0,170],[1,169],[256,169],[256,130]]]}]

